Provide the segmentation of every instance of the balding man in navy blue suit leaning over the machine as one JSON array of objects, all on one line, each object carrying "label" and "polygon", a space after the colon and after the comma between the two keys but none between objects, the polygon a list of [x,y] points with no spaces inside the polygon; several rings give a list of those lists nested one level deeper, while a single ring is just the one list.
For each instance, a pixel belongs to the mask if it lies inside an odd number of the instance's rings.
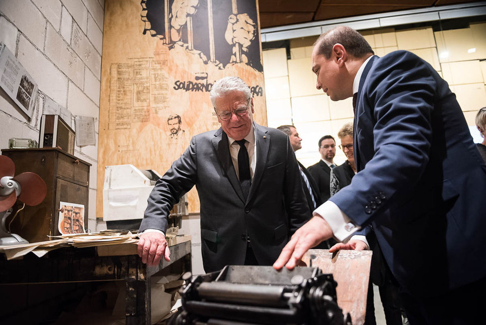
[{"label": "balding man in navy blue suit leaning over the machine", "polygon": [[410,52],[373,55],[344,26],[318,38],[312,69],[331,100],[353,96],[358,173],[294,234],[274,267],[292,269],[316,242],[346,243],[371,224],[410,324],[483,319],[486,165],[447,82]]}]

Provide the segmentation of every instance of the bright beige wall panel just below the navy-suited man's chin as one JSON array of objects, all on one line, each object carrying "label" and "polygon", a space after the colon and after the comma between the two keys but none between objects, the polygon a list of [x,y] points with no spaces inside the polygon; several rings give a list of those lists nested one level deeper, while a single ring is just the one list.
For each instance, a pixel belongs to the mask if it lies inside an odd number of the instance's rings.
[{"label": "bright beige wall panel just below the navy-suited man's chin", "polygon": [[294,123],[327,121],[330,119],[327,96],[314,95],[292,98]]}]

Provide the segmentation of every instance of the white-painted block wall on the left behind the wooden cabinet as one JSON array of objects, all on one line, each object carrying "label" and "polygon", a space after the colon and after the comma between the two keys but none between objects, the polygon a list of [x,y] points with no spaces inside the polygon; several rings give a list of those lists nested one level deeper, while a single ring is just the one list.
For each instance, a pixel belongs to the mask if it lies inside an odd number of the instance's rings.
[{"label": "white-painted block wall on the left behind the wooden cabinet", "polygon": [[[47,97],[76,116],[95,118],[99,132],[104,0],[1,0],[0,41],[15,54],[37,83],[39,93],[31,119],[0,90],[0,148],[9,138],[38,141]],[[88,228],[96,220],[98,144],[75,147],[74,155],[92,166],[89,180]]]}]

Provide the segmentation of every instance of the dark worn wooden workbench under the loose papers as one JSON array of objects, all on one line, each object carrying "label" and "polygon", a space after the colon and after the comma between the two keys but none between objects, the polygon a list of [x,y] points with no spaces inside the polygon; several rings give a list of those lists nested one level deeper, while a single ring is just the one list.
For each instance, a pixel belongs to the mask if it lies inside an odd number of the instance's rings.
[{"label": "dark worn wooden workbench under the loose papers", "polygon": [[[11,289],[12,285],[125,281],[126,324],[150,325],[150,278],[167,268],[174,268],[180,274],[191,271],[191,243],[171,246],[170,262],[162,259],[155,267],[142,263],[136,254],[136,244],[127,245],[131,246],[64,247],[41,258],[28,254],[10,261],[0,257],[0,291],[4,292],[7,286]],[[3,296],[2,300],[5,299],[8,297]],[[0,319],[4,320],[1,314]]]}]

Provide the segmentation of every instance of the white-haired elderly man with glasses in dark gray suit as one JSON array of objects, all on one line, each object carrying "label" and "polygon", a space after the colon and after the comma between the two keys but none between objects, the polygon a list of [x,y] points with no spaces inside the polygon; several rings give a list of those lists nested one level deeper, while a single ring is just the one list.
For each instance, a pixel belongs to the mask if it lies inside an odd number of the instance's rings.
[{"label": "white-haired elderly man with glasses in dark gray suit", "polygon": [[253,121],[246,83],[222,78],[210,98],[221,127],[194,136],[149,196],[138,245],[148,265],[169,260],[163,234],[167,216],[194,185],[205,272],[226,265],[272,265],[311,217],[289,137]]}]

